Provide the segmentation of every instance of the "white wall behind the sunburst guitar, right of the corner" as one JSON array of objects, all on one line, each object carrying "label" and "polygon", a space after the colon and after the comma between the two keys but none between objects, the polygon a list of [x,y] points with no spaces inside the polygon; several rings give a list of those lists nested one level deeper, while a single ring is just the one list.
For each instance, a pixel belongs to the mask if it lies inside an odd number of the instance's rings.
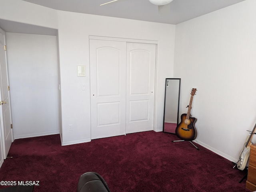
[{"label": "white wall behind the sunburst guitar, right of the corner", "polygon": [[[236,161],[256,123],[256,1],[246,0],[176,25],[174,76],[180,111],[197,88],[197,141]],[[254,141],[256,138],[254,136]]]}]

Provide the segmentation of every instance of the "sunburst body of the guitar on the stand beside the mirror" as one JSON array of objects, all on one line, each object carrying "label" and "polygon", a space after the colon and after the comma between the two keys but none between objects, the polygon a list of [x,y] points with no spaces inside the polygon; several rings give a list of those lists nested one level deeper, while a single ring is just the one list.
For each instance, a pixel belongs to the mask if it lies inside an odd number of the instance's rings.
[{"label": "sunburst body of the guitar on the stand beside the mirror", "polygon": [[175,129],[175,134],[182,140],[192,141],[196,139],[197,131],[195,127],[196,118],[186,119],[187,114],[181,115],[181,122]]}]

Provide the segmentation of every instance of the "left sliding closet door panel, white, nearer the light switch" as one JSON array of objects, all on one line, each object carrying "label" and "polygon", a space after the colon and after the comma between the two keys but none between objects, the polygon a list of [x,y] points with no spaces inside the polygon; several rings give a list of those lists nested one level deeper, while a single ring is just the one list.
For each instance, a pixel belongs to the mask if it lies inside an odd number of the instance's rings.
[{"label": "left sliding closet door panel, white, nearer the light switch", "polygon": [[125,134],[126,42],[90,39],[91,138]]}]

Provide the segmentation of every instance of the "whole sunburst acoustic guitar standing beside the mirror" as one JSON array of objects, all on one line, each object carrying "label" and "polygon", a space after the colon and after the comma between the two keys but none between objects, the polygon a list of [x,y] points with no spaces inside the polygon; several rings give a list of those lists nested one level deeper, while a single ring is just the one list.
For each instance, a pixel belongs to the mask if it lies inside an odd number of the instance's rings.
[{"label": "whole sunburst acoustic guitar standing beside the mirror", "polygon": [[192,106],[192,101],[193,101],[193,96],[195,95],[196,89],[193,88],[191,91],[191,96],[190,96],[190,102],[188,106],[188,112],[187,114],[182,114],[181,115],[181,122],[178,124],[178,126],[175,129],[176,135],[185,141],[192,141],[196,139],[197,136],[197,131],[195,127],[196,123],[196,118],[191,117],[190,112],[191,112],[191,106]]}]

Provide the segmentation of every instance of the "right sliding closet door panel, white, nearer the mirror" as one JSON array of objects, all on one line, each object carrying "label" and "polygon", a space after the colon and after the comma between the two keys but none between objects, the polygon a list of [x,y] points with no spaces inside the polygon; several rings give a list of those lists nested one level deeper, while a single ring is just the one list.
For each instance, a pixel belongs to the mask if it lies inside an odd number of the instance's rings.
[{"label": "right sliding closet door panel, white, nearer the mirror", "polygon": [[156,45],[127,43],[126,133],[153,130]]}]

